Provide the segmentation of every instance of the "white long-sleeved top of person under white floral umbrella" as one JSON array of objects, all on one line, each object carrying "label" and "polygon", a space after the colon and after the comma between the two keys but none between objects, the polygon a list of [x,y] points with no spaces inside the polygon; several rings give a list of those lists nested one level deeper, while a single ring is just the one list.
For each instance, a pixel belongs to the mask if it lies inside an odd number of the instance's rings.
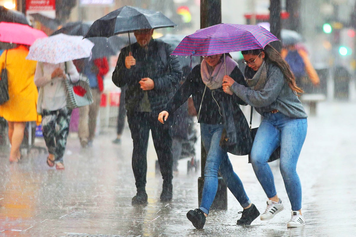
[{"label": "white long-sleeved top of person under white floral umbrella", "polygon": [[[63,81],[63,78],[54,77],[52,79],[52,72],[58,67],[65,71],[64,63],[37,63],[34,80],[36,86],[41,87],[40,90],[43,90],[42,93],[39,94],[38,98],[38,102],[42,101],[42,103],[38,103],[38,105],[41,106],[41,109],[55,111],[67,106],[67,87]],[[70,80],[73,82],[77,82],[79,80],[79,73],[73,64],[73,61],[67,62],[67,77],[64,80],[69,79],[68,75],[70,76]],[[42,98],[40,98],[41,94]]]}]

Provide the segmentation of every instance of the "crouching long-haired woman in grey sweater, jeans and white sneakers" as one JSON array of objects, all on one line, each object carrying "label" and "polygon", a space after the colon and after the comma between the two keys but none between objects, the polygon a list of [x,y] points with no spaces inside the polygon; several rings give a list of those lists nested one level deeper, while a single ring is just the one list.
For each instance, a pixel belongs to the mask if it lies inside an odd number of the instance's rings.
[{"label": "crouching long-haired woman in grey sweater, jeans and white sneakers", "polygon": [[[295,84],[289,65],[271,46],[242,51],[247,86],[224,77],[223,89],[232,92],[256,108],[263,117],[251,150],[253,170],[269,199],[261,220],[269,220],[283,210],[267,161],[281,146],[280,170],[292,205],[287,227],[305,225],[302,215],[302,187],[296,172],[300,151],[307,135],[307,114],[297,94],[303,90]],[[232,92],[231,92],[232,91]]]}]

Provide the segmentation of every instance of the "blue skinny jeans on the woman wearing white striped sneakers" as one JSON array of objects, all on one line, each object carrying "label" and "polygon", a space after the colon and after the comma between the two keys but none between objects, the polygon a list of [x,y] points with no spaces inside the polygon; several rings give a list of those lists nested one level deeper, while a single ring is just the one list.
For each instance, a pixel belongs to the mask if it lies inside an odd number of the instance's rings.
[{"label": "blue skinny jeans on the woman wearing white striped sneakers", "polygon": [[277,192],[267,161],[272,152],[281,146],[279,169],[293,211],[302,209],[302,185],[296,168],[307,128],[306,118],[290,118],[281,112],[265,113],[251,150],[253,171],[267,197],[272,198]]}]

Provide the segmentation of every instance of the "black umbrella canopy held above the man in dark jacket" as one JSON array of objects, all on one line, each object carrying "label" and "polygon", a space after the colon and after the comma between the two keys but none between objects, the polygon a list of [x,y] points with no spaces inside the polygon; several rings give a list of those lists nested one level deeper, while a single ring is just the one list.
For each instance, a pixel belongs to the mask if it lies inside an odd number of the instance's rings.
[{"label": "black umbrella canopy held above the man in dark jacket", "polygon": [[174,27],[176,24],[161,12],[123,6],[94,21],[84,38],[110,37],[138,29]]}]

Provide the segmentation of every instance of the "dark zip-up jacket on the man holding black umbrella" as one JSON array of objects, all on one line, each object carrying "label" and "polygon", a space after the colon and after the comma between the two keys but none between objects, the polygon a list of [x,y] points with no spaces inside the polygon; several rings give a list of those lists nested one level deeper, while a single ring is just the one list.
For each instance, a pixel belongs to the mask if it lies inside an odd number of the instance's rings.
[{"label": "dark zip-up jacket on the man holding black umbrella", "polygon": [[136,65],[131,69],[125,67],[125,58],[129,56],[130,47],[122,48],[114,72],[112,82],[118,87],[127,85],[126,109],[135,111],[143,98],[144,91],[138,83],[142,78],[149,77],[155,87],[147,91],[151,111],[159,113],[163,110],[169,98],[174,95],[182,77],[177,56],[171,55],[169,44],[151,39],[148,48],[142,48],[137,42],[131,44],[132,56]]}]

